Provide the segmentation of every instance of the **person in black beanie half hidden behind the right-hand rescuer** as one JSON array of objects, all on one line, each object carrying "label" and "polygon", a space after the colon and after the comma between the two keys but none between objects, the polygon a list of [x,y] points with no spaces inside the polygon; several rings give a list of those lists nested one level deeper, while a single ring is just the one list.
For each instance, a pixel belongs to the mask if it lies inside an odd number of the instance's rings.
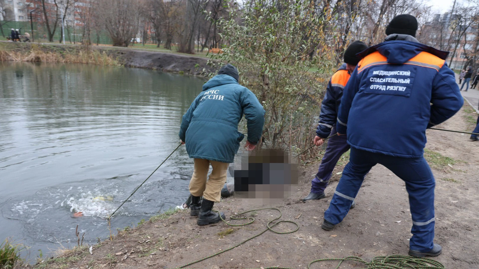
[{"label": "person in black beanie half hidden behind the right-hand rescuer", "polygon": [[[351,73],[358,64],[360,58],[356,54],[367,49],[367,45],[361,41],[355,41],[344,51],[344,64],[334,73],[326,88],[326,94],[321,103],[321,113],[319,114],[318,128],[313,143],[321,146],[324,139],[332,134],[336,134],[336,119],[338,109],[341,103],[342,90],[348,83]],[[348,151],[350,146],[347,143],[346,135],[332,136],[328,141],[326,152],[324,153],[318,173],[311,181],[311,192],[303,199],[319,200],[326,197],[324,190],[328,186],[331,174],[343,153]],[[351,208],[354,207],[354,203]]]}]

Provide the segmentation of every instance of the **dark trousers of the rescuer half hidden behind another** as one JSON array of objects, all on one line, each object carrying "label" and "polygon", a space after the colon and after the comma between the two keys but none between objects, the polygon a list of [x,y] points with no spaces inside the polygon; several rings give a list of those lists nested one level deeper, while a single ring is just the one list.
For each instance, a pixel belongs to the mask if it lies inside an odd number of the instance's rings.
[{"label": "dark trousers of the rescuer half hidden behind another", "polygon": [[[333,126],[331,134],[336,134],[336,128]],[[339,158],[343,153],[350,148],[347,143],[346,135],[335,135],[328,139],[328,146],[326,146],[326,152],[324,153],[321,164],[318,168],[318,173],[311,181],[311,192],[321,194],[329,184],[331,179],[332,170],[338,163]]]}]

